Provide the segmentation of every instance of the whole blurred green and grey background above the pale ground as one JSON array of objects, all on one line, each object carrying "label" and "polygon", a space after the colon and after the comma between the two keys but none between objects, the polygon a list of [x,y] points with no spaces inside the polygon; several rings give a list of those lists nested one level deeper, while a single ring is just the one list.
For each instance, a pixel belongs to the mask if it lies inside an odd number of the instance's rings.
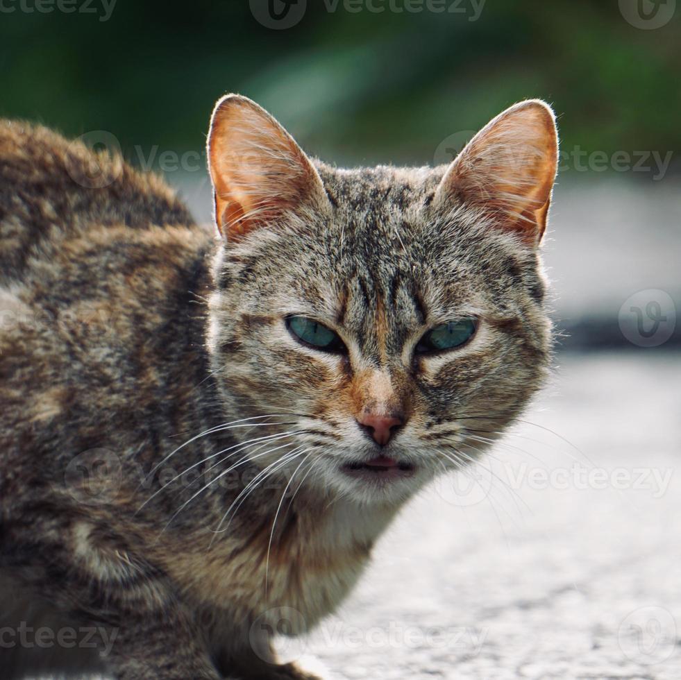
[{"label": "whole blurred green and grey background above the pale ground", "polygon": [[661,346],[681,346],[681,0],[293,2],[0,0],[0,115],[113,135],[210,223],[224,92],[338,165],[448,162],[541,97],[563,154],[544,244],[562,346],[648,346],[639,298],[664,312]]}]

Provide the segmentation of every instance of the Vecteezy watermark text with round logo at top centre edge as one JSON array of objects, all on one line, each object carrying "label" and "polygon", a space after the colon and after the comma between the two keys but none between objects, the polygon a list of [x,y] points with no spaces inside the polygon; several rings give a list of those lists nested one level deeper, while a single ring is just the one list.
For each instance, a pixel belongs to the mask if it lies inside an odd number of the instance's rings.
[{"label": "Vecteezy watermark text with round logo at top centre edge", "polygon": [[[476,22],[482,15],[486,0],[322,0],[329,14],[343,10],[348,14],[449,14]],[[307,0],[250,0],[251,14],[265,28],[282,30],[301,22]]]}]

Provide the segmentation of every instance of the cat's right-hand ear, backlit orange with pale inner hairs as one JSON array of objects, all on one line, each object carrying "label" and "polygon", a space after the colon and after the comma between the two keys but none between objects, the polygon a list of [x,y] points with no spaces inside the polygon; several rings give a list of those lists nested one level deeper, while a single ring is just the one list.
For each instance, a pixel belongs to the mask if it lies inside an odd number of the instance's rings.
[{"label": "cat's right-hand ear, backlit orange with pale inner hairs", "polygon": [[433,203],[451,198],[489,212],[500,228],[537,246],[546,230],[558,162],[555,116],[537,99],[490,121],[453,160]]}]

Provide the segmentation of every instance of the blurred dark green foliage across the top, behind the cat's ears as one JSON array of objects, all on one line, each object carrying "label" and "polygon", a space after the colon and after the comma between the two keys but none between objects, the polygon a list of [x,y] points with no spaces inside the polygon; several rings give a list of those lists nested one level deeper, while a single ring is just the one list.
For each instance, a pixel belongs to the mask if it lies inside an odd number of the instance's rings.
[{"label": "blurred dark green foliage across the top, behind the cat's ears", "polygon": [[0,14],[0,115],[110,130],[126,150],[201,148],[228,91],[339,164],[430,163],[448,135],[535,96],[555,106],[566,148],[681,149],[681,8],[643,31],[616,0],[487,0],[474,22],[308,0],[299,24],[275,31],[247,0],[117,0],[106,22],[19,1]]}]

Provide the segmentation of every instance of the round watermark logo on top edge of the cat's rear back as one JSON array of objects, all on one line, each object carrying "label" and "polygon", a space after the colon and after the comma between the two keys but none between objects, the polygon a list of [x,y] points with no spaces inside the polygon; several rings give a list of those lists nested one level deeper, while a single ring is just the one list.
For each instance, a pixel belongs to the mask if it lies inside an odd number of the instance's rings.
[{"label": "round watermark logo on top edge of the cat's rear back", "polygon": [[[95,153],[84,155],[81,144]],[[107,130],[90,130],[71,142],[67,172],[85,189],[103,189],[123,174],[121,144]]]}]

